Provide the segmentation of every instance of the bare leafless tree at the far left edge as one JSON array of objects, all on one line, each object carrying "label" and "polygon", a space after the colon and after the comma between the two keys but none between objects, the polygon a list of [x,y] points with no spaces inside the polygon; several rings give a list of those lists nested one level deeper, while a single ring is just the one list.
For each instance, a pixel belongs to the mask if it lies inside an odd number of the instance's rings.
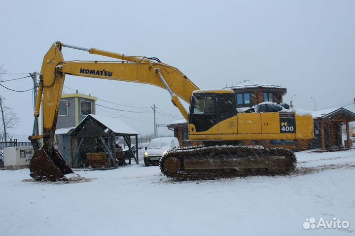
[{"label": "bare leafless tree at the far left edge", "polygon": [[[1,77],[5,72],[1,68],[2,66],[0,66],[0,82],[1,82]],[[20,119],[16,116],[16,114],[12,111],[10,107],[4,104],[4,100],[5,99],[2,96],[0,96],[0,118],[1,118],[0,140],[6,142],[7,137],[9,135],[8,130],[15,128],[17,123],[20,121]]]}]

